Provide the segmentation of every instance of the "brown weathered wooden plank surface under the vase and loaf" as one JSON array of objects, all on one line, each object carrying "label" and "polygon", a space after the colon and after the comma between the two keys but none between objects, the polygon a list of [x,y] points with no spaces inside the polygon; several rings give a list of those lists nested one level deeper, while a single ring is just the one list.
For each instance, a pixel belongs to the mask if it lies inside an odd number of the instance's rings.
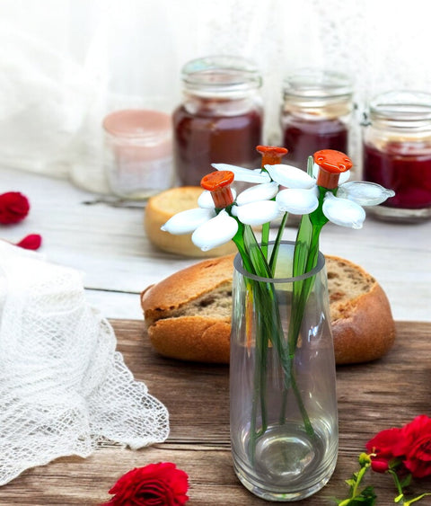
[{"label": "brown weathered wooden plank surface under the vase and loaf", "polygon": [[[248,493],[233,474],[229,449],[228,367],[188,364],[158,356],[141,321],[113,320],[119,346],[136,379],[170,412],[171,433],[163,444],[132,451],[115,446],[91,457],[63,457],[30,469],[0,488],[0,504],[21,506],[95,505],[135,466],[172,461],[189,474],[190,506],[268,504]],[[347,492],[344,480],[377,431],[431,415],[431,323],[397,323],[394,348],[382,360],[337,370],[339,460],[330,483],[302,506],[330,505]],[[374,475],[377,504],[392,503],[391,479]],[[431,491],[431,481],[414,491]],[[427,504],[427,502],[420,502]],[[429,504],[429,502],[428,502]]]}]

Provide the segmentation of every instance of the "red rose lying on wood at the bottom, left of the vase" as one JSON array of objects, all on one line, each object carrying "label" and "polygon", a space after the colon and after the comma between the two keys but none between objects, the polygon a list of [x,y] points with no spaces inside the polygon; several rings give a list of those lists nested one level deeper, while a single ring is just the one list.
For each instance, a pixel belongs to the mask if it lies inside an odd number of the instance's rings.
[{"label": "red rose lying on wood at the bottom, left of the vase", "polygon": [[110,506],[182,506],[189,497],[188,475],[171,462],[136,467],[110,489]]}]

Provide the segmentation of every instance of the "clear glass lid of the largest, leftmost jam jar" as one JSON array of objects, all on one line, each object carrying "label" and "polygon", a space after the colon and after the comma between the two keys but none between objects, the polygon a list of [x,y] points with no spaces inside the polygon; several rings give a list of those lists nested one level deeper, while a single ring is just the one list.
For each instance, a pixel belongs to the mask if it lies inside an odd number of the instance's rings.
[{"label": "clear glass lid of the largest, leftmost jam jar", "polygon": [[189,61],[181,70],[182,81],[193,92],[242,92],[259,88],[262,79],[250,60],[232,56],[211,56]]}]

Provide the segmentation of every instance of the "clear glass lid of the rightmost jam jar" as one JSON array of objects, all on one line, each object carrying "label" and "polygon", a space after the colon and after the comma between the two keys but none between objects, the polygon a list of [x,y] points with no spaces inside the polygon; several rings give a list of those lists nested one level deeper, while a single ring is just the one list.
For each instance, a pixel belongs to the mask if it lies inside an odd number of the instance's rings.
[{"label": "clear glass lid of the rightmost jam jar", "polygon": [[369,104],[371,120],[418,127],[431,120],[431,93],[400,90],[381,93]]}]

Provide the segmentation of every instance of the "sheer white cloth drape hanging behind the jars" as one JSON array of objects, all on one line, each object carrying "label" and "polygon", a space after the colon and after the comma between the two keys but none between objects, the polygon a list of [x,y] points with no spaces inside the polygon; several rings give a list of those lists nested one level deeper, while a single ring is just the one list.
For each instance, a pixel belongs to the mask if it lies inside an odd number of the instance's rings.
[{"label": "sheer white cloth drape hanging behind the jars", "polygon": [[351,75],[375,93],[431,90],[427,0],[38,0],[0,3],[0,159],[106,191],[101,120],[172,111],[180,68],[233,54],[261,69],[266,134],[277,139],[282,78],[297,67]]}]

